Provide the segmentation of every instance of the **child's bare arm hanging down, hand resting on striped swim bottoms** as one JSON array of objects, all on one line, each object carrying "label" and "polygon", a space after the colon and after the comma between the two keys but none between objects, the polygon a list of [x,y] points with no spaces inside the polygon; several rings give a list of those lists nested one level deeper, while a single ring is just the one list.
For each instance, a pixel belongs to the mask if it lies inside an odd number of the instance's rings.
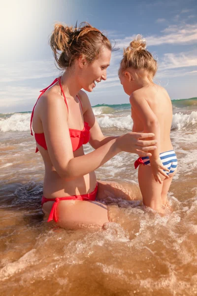
[{"label": "child's bare arm hanging down, hand resting on striped swim bottoms", "polygon": [[160,174],[164,175],[164,177],[168,177],[167,174],[164,173],[163,170],[169,171],[167,168],[164,167],[161,159],[160,159],[160,124],[157,119],[157,116],[151,110],[148,102],[140,98],[135,93],[131,94],[130,103],[133,108],[133,111],[137,114],[138,118],[141,120],[144,126],[144,133],[151,132],[154,133],[155,136],[153,137],[154,140],[157,140],[158,143],[156,144],[157,149],[152,151],[152,156],[150,156],[150,164],[152,168],[153,175],[156,181],[162,183],[160,178]]}]

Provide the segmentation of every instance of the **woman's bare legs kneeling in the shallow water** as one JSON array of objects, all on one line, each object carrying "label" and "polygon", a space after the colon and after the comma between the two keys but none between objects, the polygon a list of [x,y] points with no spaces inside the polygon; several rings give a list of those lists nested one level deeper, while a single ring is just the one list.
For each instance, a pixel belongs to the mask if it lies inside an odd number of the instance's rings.
[{"label": "woman's bare legs kneeling in the shallow water", "polygon": [[[82,226],[102,227],[111,219],[108,215],[107,206],[99,203],[99,200],[108,196],[126,200],[141,199],[139,186],[135,183],[98,181],[96,201],[63,200],[58,204],[57,215],[59,220],[57,225],[71,229]],[[48,201],[43,204],[42,209],[47,218],[53,203],[53,201]]]}]

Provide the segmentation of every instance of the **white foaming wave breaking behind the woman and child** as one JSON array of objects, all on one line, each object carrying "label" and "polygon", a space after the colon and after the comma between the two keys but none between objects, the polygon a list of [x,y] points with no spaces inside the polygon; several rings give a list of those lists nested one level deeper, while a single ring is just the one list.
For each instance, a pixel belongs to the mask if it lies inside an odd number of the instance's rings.
[{"label": "white foaming wave breaking behind the woman and child", "polygon": [[[96,107],[100,108],[100,107]],[[99,109],[98,109],[99,110]],[[101,110],[102,111],[102,110]],[[99,113],[99,111],[98,111]],[[101,128],[116,127],[118,129],[132,129],[131,115],[115,116],[111,113],[97,117]],[[110,115],[111,114],[111,115]],[[99,115],[99,114],[98,114]],[[0,118],[0,131],[29,131],[30,130],[31,113],[14,113],[8,118]],[[192,111],[190,114],[175,113],[173,114],[172,126],[173,130],[187,129],[197,125],[197,111]]]}]

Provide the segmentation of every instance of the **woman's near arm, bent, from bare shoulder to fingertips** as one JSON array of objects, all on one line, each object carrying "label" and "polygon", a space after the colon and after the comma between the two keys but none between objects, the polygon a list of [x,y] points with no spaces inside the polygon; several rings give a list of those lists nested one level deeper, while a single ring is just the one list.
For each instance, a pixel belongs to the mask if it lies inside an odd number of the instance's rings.
[{"label": "woman's near arm, bent, from bare shoulder to fingertips", "polygon": [[111,159],[120,151],[147,154],[155,148],[155,140],[142,141],[140,138],[153,137],[153,134],[128,133],[110,140],[98,149],[86,155],[73,156],[67,125],[67,109],[64,99],[50,94],[40,102],[40,118],[50,159],[57,173],[67,180],[84,176]]}]

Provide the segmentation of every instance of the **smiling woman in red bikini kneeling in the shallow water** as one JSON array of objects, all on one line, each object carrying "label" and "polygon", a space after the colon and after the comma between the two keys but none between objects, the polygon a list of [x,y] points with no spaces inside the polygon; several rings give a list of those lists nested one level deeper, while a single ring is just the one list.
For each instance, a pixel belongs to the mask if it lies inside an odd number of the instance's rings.
[{"label": "smiling woman in red bikini kneeling in the shallow water", "polygon": [[[79,28],[56,24],[50,45],[64,74],[41,91],[31,118],[36,151],[45,165],[42,209],[48,221],[55,220],[61,227],[102,226],[110,220],[98,200],[106,188],[114,194],[121,186],[97,182],[94,171],[120,151],[151,155],[146,151],[155,149],[156,141],[138,139],[154,134],[103,136],[81,90],[91,92],[96,82],[106,80],[112,47],[98,29],[89,24]],[[88,142],[95,150],[84,155],[83,144]]]}]

